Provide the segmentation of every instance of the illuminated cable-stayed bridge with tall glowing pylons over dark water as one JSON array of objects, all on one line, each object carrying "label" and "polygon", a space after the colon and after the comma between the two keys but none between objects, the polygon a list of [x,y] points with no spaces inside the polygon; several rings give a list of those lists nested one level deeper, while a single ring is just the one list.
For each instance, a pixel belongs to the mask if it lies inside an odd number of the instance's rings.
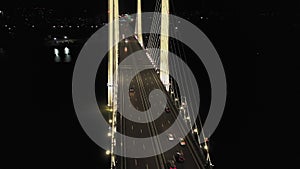
[{"label": "illuminated cable-stayed bridge with tall glowing pylons over dark water", "polygon": [[[155,12],[152,18],[151,30],[158,34],[150,34],[145,38],[142,33],[142,3],[137,0],[137,15],[135,18],[134,30],[127,29],[129,22],[120,24],[118,0],[109,0],[109,33],[108,33],[108,100],[107,105],[111,108],[111,168],[113,169],[166,169],[166,168],[189,168],[206,169],[212,168],[212,162],[209,156],[208,140],[205,132],[200,125],[190,123],[192,117],[187,106],[189,103],[186,97],[181,95],[176,81],[169,75],[169,64],[178,65],[178,74],[185,76],[180,69],[180,63],[177,63],[170,57],[169,48],[178,48],[181,55],[184,50],[178,43],[170,42],[170,11],[169,0],[157,0]],[[126,31],[134,31],[129,34],[134,36],[121,38]],[[115,43],[118,42],[118,43]],[[149,50],[148,50],[149,49]],[[157,50],[151,50],[157,49]],[[138,52],[139,51],[139,52]],[[138,55],[130,57],[131,54],[138,52]],[[180,56],[184,58],[185,56]],[[126,60],[126,63],[119,66]],[[134,74],[138,67],[144,70],[137,73],[133,79],[130,74]],[[128,84],[130,88],[128,88]],[[147,112],[146,114],[135,114],[137,118],[145,118],[149,123],[137,123],[122,116],[125,110],[124,100],[130,96],[130,104],[139,111],[146,111],[151,107],[149,103],[149,94],[152,90],[159,89],[166,95],[166,105],[164,112],[158,118],[154,115],[159,112]],[[125,91],[125,92],[124,92]],[[122,100],[123,102],[120,102]],[[158,139],[156,135],[164,132],[173,125],[173,122],[181,118],[181,123],[176,124],[175,129],[182,131],[186,127],[190,132],[185,137],[179,137],[170,132],[164,140]],[[202,131],[200,135],[200,131]],[[115,132],[136,138],[152,138],[152,146],[142,145],[141,149],[135,149],[137,143],[130,142],[126,137],[116,138]],[[178,142],[172,149],[163,151],[163,142]],[[200,144],[202,142],[202,144]],[[153,151],[157,155],[130,158],[118,156],[114,151],[119,149],[123,154],[130,151]]]}]

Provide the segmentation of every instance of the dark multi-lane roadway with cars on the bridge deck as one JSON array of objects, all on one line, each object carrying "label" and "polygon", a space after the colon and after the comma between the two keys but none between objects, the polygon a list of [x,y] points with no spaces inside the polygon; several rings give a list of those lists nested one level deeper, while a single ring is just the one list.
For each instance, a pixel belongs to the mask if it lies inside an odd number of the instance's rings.
[{"label": "dark multi-lane roadway with cars on the bridge deck", "polygon": [[[127,49],[126,49],[127,48]],[[143,50],[143,48],[140,46],[138,41],[134,37],[128,38],[127,43],[123,40],[120,42],[119,46],[119,63],[122,62],[124,58],[126,58],[131,53],[134,53],[136,51]],[[166,94],[167,91],[164,89],[160,79],[159,75],[156,73],[156,71],[153,69],[153,66],[151,65],[151,62],[148,61],[146,52],[143,51],[141,56],[138,56],[136,58],[129,58],[131,59],[130,62],[126,65],[122,65],[119,67],[119,91],[128,91],[128,89],[125,89],[125,83],[130,83],[130,86],[132,86],[135,90],[135,93],[133,96],[130,96],[132,105],[140,111],[147,110],[149,108],[149,101],[148,96],[149,93],[153,89],[161,89]],[[146,61],[146,62],[145,62]],[[135,71],[135,68],[137,65],[143,65],[146,70],[138,73],[134,79],[129,79],[128,75]],[[126,94],[129,94],[128,92],[119,92],[118,97],[125,97]],[[121,132],[127,136],[131,137],[138,137],[138,138],[145,138],[145,137],[151,137],[155,136],[157,134],[160,134],[164,132],[166,129],[168,129],[174,122],[174,120],[178,117],[181,118],[181,116],[178,116],[178,109],[175,107],[171,97],[167,95],[167,102],[168,107],[170,107],[170,112],[163,112],[161,116],[157,119],[153,119],[154,113],[159,112],[150,112],[147,113],[146,117],[148,120],[153,121],[152,123],[136,123],[133,121],[130,121],[118,114],[117,116],[117,130],[118,132]],[[119,103],[119,106],[124,106],[124,104]],[[122,107],[119,107],[119,109],[122,109]],[[139,115],[137,115],[139,116]],[[186,124],[181,124],[186,125]],[[181,130],[181,126],[177,126],[178,130]],[[168,139],[168,136],[166,135],[165,139]],[[179,138],[175,136],[175,140],[177,141]],[[164,169],[167,168],[167,161],[168,160],[174,160],[177,169],[204,169],[203,161],[204,161],[204,155],[197,145],[194,137],[192,136],[191,132],[188,136],[185,137],[186,145],[182,146],[180,144],[177,144],[175,147],[170,149],[167,152],[164,152],[162,154],[148,157],[148,158],[124,158],[124,157],[117,157],[117,169]],[[124,146],[125,144],[132,144],[128,143],[125,138],[121,138],[121,140],[116,141],[116,146],[118,148],[121,148],[122,151],[126,153],[126,151],[132,151],[129,150],[129,146]],[[146,149],[153,149],[153,151],[157,151],[159,149],[161,140],[153,140],[153,146],[152,147],[145,147],[143,146],[143,150],[137,150],[137,151],[145,151]],[[156,145],[158,144],[158,145]],[[184,154],[185,161],[183,163],[178,163],[175,160],[175,154],[177,151],[181,151]]]}]

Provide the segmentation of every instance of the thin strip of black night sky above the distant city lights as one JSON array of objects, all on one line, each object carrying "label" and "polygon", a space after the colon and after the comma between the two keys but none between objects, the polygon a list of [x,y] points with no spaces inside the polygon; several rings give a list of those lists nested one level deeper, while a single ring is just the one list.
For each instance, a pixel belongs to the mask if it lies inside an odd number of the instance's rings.
[{"label": "thin strip of black night sky above the distant city lights", "polygon": [[[1,1],[1,6],[32,6],[32,4],[44,6],[44,7],[55,7],[57,9],[80,9],[88,8],[91,10],[105,11],[106,1],[100,0],[86,0],[86,1],[74,1],[74,0],[51,0],[51,1],[40,1],[40,0],[11,0]],[[258,10],[278,10],[278,11],[298,11],[300,8],[299,1],[272,1],[272,0],[190,0],[189,3],[182,0],[173,1],[177,10],[199,10],[201,6],[205,6],[206,9],[217,9],[217,10],[237,10],[245,12],[253,12]],[[143,9],[145,11],[153,10],[155,0],[142,1]],[[202,4],[202,5],[201,5]],[[120,1],[120,10],[135,10],[134,1]]]}]

